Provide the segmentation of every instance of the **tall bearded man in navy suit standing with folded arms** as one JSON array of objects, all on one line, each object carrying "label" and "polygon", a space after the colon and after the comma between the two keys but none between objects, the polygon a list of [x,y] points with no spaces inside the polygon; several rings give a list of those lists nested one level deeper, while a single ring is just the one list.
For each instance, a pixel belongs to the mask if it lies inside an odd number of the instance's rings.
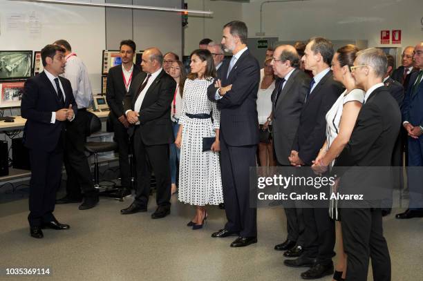
[{"label": "tall bearded man in navy suit standing with folded arms", "polygon": [[227,224],[214,238],[238,235],[232,247],[257,242],[257,211],[250,206],[250,167],[256,166],[259,120],[256,110],[259,62],[247,48],[247,26],[231,21],[223,27],[222,44],[232,51],[223,61],[208,96],[220,109],[220,166]]}]

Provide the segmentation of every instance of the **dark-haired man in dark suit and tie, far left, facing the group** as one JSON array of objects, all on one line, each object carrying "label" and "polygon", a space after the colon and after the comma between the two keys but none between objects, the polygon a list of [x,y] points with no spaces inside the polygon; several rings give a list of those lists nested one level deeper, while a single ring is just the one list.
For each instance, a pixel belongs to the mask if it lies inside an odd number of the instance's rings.
[{"label": "dark-haired man in dark suit and tie, far left, facing the group", "polygon": [[41,228],[69,229],[53,215],[62,180],[65,124],[75,118],[77,110],[71,82],[59,77],[66,64],[64,52],[53,45],[41,50],[44,72],[26,81],[21,101],[21,115],[27,119],[23,141],[32,172],[28,221],[33,238],[44,237]]}]

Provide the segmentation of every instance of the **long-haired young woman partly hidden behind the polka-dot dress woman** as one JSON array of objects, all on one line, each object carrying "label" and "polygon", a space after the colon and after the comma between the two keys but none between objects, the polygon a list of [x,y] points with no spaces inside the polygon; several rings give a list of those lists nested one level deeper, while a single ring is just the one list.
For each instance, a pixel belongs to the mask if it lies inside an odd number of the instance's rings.
[{"label": "long-haired young woman partly hidden behind the polka-dot dress woman", "polygon": [[[176,81],[176,90],[173,94],[172,109],[171,109],[171,120],[173,135],[176,138],[179,130],[179,118],[180,110],[182,108],[182,93],[184,90],[185,79],[187,79],[187,72],[185,72],[184,64],[182,61],[173,61],[169,68],[169,75]],[[178,171],[176,164],[179,163],[180,149],[175,144],[170,144],[170,157],[169,162],[171,166],[171,194],[176,193],[176,173]]]}]

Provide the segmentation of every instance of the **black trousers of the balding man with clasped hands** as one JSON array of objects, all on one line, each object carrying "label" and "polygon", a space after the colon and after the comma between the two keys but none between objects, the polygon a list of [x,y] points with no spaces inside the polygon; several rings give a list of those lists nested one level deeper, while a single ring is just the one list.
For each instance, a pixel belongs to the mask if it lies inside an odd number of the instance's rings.
[{"label": "black trousers of the balding man with clasped hands", "polygon": [[137,168],[137,188],[134,204],[147,206],[150,196],[151,170],[156,177],[157,206],[170,206],[171,175],[169,167],[169,144],[146,146],[142,142],[140,129],[135,127],[133,148]]}]

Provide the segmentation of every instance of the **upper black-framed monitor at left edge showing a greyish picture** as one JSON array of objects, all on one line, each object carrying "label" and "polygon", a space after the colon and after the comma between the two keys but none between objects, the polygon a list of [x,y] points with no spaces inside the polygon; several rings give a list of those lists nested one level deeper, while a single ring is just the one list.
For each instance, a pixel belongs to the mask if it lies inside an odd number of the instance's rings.
[{"label": "upper black-framed monitor at left edge showing a greyish picture", "polygon": [[0,80],[32,75],[32,50],[0,50]]}]

